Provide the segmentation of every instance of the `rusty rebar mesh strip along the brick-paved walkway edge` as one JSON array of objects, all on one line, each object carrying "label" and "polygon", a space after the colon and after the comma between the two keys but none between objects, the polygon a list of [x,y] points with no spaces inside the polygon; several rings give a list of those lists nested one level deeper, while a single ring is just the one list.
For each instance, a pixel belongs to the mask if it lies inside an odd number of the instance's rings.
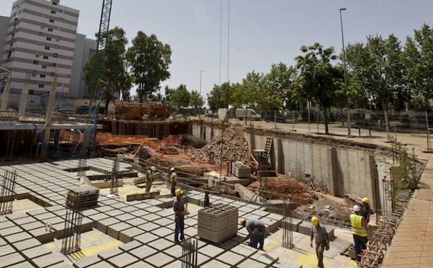
[{"label": "rusty rebar mesh strip along the brick-paved walkway edge", "polygon": [[411,191],[400,191],[395,196],[395,209],[387,214],[385,218],[379,222],[379,226],[375,231],[370,244],[361,255],[361,268],[376,268],[380,267],[388,246],[391,244],[395,232],[400,224],[404,210],[406,209],[409,200],[411,200]]}]

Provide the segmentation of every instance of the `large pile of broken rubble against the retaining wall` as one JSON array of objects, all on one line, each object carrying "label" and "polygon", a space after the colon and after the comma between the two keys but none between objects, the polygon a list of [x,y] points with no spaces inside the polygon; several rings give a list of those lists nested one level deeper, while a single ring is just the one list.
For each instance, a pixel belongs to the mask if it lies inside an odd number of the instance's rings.
[{"label": "large pile of broken rubble against the retaining wall", "polygon": [[239,127],[228,127],[224,129],[223,134],[217,136],[203,148],[194,150],[192,155],[196,159],[216,164],[220,164],[221,161],[226,163],[236,160],[249,163],[249,146],[242,133]]}]

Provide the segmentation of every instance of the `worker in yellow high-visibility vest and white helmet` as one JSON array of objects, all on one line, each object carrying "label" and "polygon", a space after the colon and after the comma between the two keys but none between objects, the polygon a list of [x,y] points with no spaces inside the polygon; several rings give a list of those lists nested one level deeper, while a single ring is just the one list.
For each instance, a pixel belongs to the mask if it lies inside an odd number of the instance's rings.
[{"label": "worker in yellow high-visibility vest and white helmet", "polygon": [[350,215],[350,223],[354,237],[356,262],[361,262],[361,254],[367,248],[368,237],[367,220],[361,216],[361,209],[358,205],[354,205],[354,214]]}]

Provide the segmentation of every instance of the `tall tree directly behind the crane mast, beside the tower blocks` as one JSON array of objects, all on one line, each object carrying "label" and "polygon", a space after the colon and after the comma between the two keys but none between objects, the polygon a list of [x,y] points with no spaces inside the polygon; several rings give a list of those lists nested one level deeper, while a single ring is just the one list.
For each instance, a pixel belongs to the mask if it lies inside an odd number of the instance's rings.
[{"label": "tall tree directly behind the crane mast, beside the tower blocks", "polygon": [[[107,83],[102,91],[102,95],[95,96],[97,99],[105,100],[105,113],[108,112],[109,103],[113,100],[114,93],[120,93],[120,88],[127,88],[127,68],[125,68],[125,53],[128,40],[125,31],[122,28],[115,27],[108,33],[107,52],[105,54],[104,81]],[[84,66],[84,75],[86,82],[90,85],[90,97],[95,95],[95,64],[103,60],[103,52],[96,52],[88,63]],[[130,88],[130,87],[129,87]]]}]

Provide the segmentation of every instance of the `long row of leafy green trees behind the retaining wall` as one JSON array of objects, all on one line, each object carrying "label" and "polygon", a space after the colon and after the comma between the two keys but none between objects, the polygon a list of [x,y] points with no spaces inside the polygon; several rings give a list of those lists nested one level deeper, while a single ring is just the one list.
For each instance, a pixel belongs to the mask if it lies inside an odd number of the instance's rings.
[{"label": "long row of leafy green trees behind the retaining wall", "polygon": [[[278,63],[267,74],[250,72],[237,84],[215,85],[207,95],[210,109],[251,107],[257,110],[301,109],[312,102],[323,111],[340,109],[388,111],[430,110],[433,98],[433,29],[423,24],[402,45],[393,34],[368,36],[346,48],[343,56],[319,43],[302,46],[294,66]],[[388,126],[388,125],[387,125]]]}]

